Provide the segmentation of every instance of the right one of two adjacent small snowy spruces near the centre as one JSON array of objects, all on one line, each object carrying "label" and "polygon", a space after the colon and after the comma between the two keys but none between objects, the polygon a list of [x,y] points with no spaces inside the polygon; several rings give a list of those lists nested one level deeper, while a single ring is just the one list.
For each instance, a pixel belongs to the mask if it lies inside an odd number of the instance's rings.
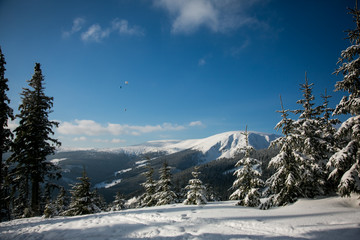
[{"label": "right one of two adjacent small snowy spruces near the centre", "polygon": [[154,195],[156,199],[156,206],[172,204],[176,202],[177,196],[171,190],[171,168],[164,161],[162,168],[160,168],[160,179],[157,182],[157,190]]}]

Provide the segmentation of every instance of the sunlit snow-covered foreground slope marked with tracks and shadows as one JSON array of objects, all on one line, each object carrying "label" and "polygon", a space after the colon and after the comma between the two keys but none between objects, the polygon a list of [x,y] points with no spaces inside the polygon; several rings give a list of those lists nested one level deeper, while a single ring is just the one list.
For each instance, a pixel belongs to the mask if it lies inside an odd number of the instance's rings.
[{"label": "sunlit snow-covered foreground slope marked with tracks and shadows", "polygon": [[234,201],[182,204],[0,224],[1,239],[359,239],[356,198],[299,200],[270,210]]}]

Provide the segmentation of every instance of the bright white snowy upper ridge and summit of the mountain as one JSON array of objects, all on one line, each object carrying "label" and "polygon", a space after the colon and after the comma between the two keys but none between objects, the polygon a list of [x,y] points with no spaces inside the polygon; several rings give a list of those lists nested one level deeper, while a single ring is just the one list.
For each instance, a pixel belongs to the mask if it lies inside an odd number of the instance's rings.
[{"label": "bright white snowy upper ridge and summit of the mountain", "polygon": [[[249,132],[249,144],[255,149],[264,149],[277,137],[279,136],[275,134]],[[232,158],[245,144],[244,132],[230,131],[202,139],[149,141],[116,149],[116,151],[139,155],[149,152],[172,154],[184,150],[196,150],[203,154],[203,161],[206,162],[220,158]]]}]

